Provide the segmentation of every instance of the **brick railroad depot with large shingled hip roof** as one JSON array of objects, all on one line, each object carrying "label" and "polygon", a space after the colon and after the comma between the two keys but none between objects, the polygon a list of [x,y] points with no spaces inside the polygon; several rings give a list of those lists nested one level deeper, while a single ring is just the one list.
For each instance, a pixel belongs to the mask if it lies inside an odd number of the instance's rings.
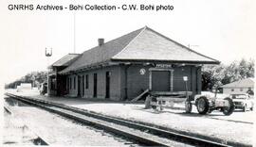
[{"label": "brick railroad depot with large shingled hip roof", "polygon": [[113,41],[99,39],[98,46],[55,72],[63,80],[56,79],[55,85],[63,86],[55,88],[71,97],[131,100],[144,90],[185,91],[187,76],[188,90],[196,94],[201,92],[202,64],[219,61],[145,26]]}]

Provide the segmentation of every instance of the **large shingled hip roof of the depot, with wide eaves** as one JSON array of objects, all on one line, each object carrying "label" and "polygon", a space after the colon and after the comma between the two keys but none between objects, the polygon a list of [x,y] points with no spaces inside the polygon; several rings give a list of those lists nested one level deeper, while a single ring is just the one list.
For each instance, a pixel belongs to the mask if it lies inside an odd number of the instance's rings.
[{"label": "large shingled hip roof of the depot, with wide eaves", "polygon": [[145,26],[82,53],[61,73],[81,70],[107,61],[168,61],[177,63],[218,64]]}]

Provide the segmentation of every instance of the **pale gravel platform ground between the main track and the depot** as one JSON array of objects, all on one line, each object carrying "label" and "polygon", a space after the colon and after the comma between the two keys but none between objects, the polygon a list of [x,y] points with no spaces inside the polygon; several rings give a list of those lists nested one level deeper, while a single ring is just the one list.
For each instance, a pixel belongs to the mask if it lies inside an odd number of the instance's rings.
[{"label": "pale gravel platform ground between the main track and the depot", "polygon": [[[64,106],[74,106],[80,109],[96,112],[132,122],[139,122],[149,126],[165,128],[175,133],[190,137],[217,142],[229,142],[231,145],[251,146],[253,144],[252,111],[234,111],[230,116],[213,111],[209,115],[200,115],[192,107],[192,113],[187,114],[179,109],[145,109],[143,103],[114,102],[70,97],[47,97],[39,95],[37,91],[9,93],[46,100]],[[35,127],[36,128],[36,127]],[[119,145],[119,144],[116,144]],[[174,145],[176,146],[176,145]]]}]

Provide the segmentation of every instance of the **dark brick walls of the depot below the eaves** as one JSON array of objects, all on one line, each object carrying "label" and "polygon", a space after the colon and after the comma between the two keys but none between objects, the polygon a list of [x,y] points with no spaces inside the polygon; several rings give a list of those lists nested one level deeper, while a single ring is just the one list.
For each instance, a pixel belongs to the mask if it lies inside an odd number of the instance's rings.
[{"label": "dark brick walls of the depot below the eaves", "polygon": [[[149,65],[131,64],[103,67],[97,70],[90,70],[82,73],[67,75],[68,96],[81,98],[106,98],[106,72],[110,73],[110,98],[111,100],[131,100],[144,90],[149,89]],[[188,90],[193,94],[201,92],[201,68],[195,66],[180,66],[172,68],[174,70],[173,83],[174,91],[185,91],[183,76],[188,77]],[[144,71],[144,72],[141,72]],[[97,96],[94,97],[94,73],[97,73]],[[82,75],[84,76],[82,87]],[[88,89],[86,89],[85,76],[88,75]],[[80,86],[78,85],[80,77]],[[157,77],[163,78],[163,77]],[[71,79],[71,81],[70,81]],[[167,78],[166,80],[170,80]],[[79,89],[80,88],[80,95]],[[82,92],[82,88],[84,93]]]}]

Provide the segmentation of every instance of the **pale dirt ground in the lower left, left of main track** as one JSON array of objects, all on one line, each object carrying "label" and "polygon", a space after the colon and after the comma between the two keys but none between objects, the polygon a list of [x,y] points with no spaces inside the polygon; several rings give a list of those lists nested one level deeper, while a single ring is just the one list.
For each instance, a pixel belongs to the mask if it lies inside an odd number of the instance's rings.
[{"label": "pale dirt ground in the lower left, left of main track", "polygon": [[[8,106],[8,104],[6,104]],[[129,146],[103,130],[64,119],[33,106],[9,106],[5,114],[4,145],[34,145],[33,139],[44,139],[54,146]]]}]

